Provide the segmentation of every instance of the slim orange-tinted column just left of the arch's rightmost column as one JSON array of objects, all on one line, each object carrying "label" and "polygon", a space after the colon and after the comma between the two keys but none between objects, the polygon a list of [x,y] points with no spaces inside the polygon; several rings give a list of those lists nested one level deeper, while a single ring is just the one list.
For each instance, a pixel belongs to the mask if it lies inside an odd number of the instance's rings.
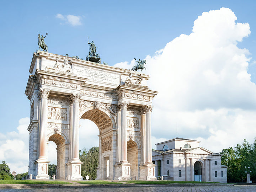
[{"label": "slim orange-tinted column just left of the arch's rightmost column", "polygon": [[146,112],[145,108],[140,109],[140,137],[142,144],[141,165],[146,162]]}]

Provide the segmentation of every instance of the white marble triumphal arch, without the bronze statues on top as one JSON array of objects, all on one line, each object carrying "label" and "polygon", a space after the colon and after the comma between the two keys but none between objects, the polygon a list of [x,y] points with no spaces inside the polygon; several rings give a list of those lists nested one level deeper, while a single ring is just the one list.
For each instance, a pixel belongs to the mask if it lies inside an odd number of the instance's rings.
[{"label": "white marble triumphal arch, without the bronze statues on top", "polygon": [[97,179],[155,179],[148,75],[37,51],[25,94],[30,100],[29,171],[49,179],[48,143],[57,145],[57,178],[79,180],[79,119],[99,129]]}]

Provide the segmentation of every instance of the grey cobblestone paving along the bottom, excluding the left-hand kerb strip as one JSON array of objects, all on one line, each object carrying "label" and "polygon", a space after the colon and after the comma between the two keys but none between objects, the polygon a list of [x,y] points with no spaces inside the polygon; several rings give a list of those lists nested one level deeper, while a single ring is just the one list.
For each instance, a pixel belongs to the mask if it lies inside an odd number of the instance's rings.
[{"label": "grey cobblestone paving along the bottom, excluding the left-hand kerb strip", "polygon": [[115,188],[83,188],[83,189],[1,189],[0,192],[256,192],[256,186],[200,186],[200,187],[115,187]]}]

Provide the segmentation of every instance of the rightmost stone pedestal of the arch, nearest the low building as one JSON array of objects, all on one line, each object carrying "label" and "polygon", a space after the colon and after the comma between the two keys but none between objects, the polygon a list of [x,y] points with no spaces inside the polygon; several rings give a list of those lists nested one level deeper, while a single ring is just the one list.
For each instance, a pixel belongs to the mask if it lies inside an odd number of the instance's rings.
[{"label": "rightmost stone pedestal of the arch, nearest the low building", "polygon": [[140,177],[139,180],[156,180],[155,177],[155,166],[153,163],[144,164],[139,166],[140,169]]}]

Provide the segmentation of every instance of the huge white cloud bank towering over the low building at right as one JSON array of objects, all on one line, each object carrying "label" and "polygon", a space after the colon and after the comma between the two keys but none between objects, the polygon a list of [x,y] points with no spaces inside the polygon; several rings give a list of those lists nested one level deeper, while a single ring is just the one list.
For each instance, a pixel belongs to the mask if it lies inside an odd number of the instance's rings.
[{"label": "huge white cloud bank towering over the low building at right", "polygon": [[249,50],[238,48],[250,26],[236,20],[228,8],[203,12],[191,34],[181,34],[145,58],[148,85],[159,91],[153,100],[152,144],[176,134],[200,140],[214,152],[243,139],[253,142],[256,86],[247,73]]}]

